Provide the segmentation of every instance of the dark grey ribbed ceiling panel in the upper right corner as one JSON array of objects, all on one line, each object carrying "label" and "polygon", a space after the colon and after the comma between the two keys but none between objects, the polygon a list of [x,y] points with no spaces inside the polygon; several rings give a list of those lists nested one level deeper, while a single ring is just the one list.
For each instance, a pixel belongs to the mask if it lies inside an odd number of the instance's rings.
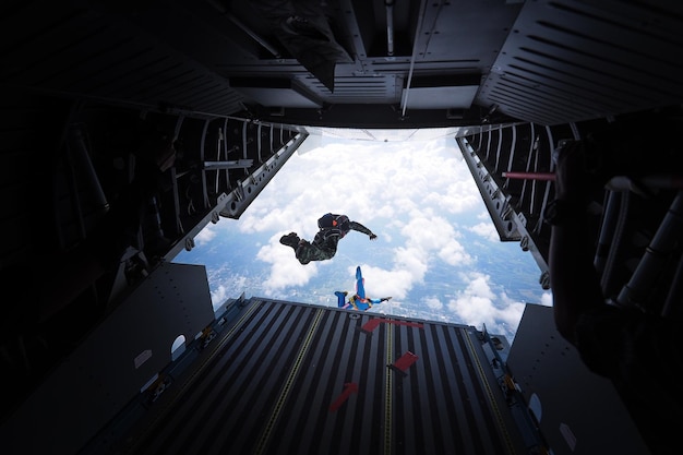
[{"label": "dark grey ribbed ceiling panel in the upper right corner", "polygon": [[477,104],[546,125],[683,99],[680,7],[525,2]]}]

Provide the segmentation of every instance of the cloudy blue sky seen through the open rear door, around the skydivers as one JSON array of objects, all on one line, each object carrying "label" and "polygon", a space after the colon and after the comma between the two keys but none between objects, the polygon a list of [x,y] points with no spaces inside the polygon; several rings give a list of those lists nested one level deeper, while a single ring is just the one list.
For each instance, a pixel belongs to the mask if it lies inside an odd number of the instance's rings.
[{"label": "cloudy blue sky seen through the open rear door, around the skydivers", "polygon": [[[501,242],[452,137],[403,141],[309,137],[239,220],[221,218],[175,262],[205,264],[214,307],[242,291],[336,306],[360,265],[371,311],[487,328],[512,343],[524,303],[549,306],[540,271],[517,242]],[[378,235],[349,232],[332,261],[301,265],[278,242],[312,239],[324,213]]]}]

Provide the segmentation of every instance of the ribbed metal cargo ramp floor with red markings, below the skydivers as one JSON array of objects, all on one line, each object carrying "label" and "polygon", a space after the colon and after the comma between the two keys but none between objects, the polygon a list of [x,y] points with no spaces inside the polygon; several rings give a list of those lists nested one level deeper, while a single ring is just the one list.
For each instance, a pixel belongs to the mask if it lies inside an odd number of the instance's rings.
[{"label": "ribbed metal cargo ramp floor with red markings, below the skydivers", "polygon": [[470,326],[252,298],[203,356],[128,453],[526,453]]}]

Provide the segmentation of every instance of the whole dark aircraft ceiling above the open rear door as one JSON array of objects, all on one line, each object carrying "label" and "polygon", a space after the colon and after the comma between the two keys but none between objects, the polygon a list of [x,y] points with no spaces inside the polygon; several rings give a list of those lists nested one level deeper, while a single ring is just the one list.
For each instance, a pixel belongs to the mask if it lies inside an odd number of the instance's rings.
[{"label": "whole dark aircraft ceiling above the open rear door", "polygon": [[0,81],[265,121],[558,124],[676,104],[679,2],[4,2]]}]

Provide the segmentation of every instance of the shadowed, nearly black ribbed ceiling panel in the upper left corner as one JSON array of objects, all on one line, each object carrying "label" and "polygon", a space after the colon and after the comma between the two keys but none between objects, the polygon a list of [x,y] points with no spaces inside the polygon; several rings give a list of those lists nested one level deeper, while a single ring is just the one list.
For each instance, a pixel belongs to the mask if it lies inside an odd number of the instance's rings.
[{"label": "shadowed, nearly black ribbed ceiling panel in the upper left corner", "polygon": [[[134,20],[164,22],[158,14],[141,9]],[[153,28],[131,26],[132,17],[107,15],[80,2],[32,2],[7,8],[2,20],[0,83],[7,86],[214,115],[239,109],[241,96],[223,77],[160,44]],[[31,25],[14,26],[22,23]]]}]

